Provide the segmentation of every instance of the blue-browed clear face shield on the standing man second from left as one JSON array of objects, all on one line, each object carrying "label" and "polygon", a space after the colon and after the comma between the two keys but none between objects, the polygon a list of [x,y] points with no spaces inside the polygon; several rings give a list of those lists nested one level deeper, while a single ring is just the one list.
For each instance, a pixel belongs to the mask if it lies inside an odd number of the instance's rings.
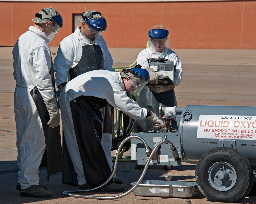
[{"label": "blue-browed clear face shield on the standing man second from left", "polygon": [[88,39],[93,39],[93,44],[99,40],[100,36],[107,28],[107,21],[105,18],[102,17],[102,19],[91,19],[94,15],[97,14],[101,16],[101,13],[97,11],[92,12],[88,17],[83,16],[82,14],[82,18],[88,26],[88,32],[85,33],[85,36]]}]

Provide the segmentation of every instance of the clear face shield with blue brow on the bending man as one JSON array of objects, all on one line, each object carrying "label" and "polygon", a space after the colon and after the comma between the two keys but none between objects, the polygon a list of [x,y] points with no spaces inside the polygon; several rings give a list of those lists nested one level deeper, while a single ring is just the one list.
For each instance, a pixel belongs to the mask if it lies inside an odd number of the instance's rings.
[{"label": "clear face shield with blue brow on the bending man", "polygon": [[141,67],[137,65],[136,67],[126,67],[123,69],[123,73],[127,75],[127,77],[131,77],[131,88],[129,92],[136,96],[148,83],[149,73],[146,69],[138,68]]}]

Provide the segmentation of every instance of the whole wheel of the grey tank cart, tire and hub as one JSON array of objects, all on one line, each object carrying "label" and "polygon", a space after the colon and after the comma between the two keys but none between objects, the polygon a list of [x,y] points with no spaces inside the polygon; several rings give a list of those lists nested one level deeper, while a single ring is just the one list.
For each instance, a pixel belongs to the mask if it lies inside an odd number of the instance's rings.
[{"label": "whole wheel of the grey tank cart, tire and hub", "polygon": [[249,160],[239,151],[217,147],[207,151],[196,166],[200,192],[214,202],[238,202],[248,195],[253,185]]}]

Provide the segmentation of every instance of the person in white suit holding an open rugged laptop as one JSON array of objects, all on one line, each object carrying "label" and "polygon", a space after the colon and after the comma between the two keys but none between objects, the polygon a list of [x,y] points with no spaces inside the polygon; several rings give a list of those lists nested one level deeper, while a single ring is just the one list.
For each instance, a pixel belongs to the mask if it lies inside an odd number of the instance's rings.
[{"label": "person in white suit holding an open rugged laptop", "polygon": [[[154,26],[152,30],[148,31],[148,48],[142,50],[137,57],[137,63],[150,73],[150,84],[147,84],[147,87],[144,87],[140,92],[138,104],[157,112],[159,117],[159,103],[167,107],[177,106],[174,87],[178,86],[182,79],[182,65],[176,53],[170,49],[168,35],[169,31],[162,25]],[[157,84],[158,74],[151,66],[151,62],[156,59],[166,59],[174,62],[174,84]],[[151,85],[151,83],[155,85]],[[151,127],[152,124],[146,120],[136,121],[135,124],[136,132],[150,131]]]}]

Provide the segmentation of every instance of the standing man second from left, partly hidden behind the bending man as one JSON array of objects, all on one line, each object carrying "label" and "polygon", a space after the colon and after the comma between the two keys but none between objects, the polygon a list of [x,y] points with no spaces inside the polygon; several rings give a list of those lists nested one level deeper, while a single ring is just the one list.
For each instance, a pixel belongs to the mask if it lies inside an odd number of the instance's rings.
[{"label": "standing man second from left, partly hidden behind the bending man", "polygon": [[[57,56],[54,60],[54,71],[56,72],[56,85],[58,87],[57,97],[70,81],[78,75],[92,70],[105,69],[115,71],[113,59],[109,53],[102,33],[107,28],[106,19],[101,13],[95,10],[83,12],[82,17],[78,18],[81,26],[71,35],[63,39],[59,44]],[[110,147],[112,145],[112,118],[110,106],[107,104],[101,109],[103,122],[103,136],[101,143],[105,151],[106,157],[112,168],[112,156]],[[70,162],[69,155],[66,154],[66,142],[63,141],[63,183],[77,183],[76,175]],[[122,180],[114,175],[114,181],[117,184]]]}]

